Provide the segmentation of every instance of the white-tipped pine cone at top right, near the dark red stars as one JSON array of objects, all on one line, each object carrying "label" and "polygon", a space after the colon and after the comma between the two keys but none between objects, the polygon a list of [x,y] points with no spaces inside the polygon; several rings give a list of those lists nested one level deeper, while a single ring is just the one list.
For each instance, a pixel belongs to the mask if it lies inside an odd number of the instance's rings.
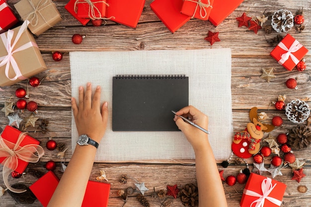
[{"label": "white-tipped pine cone at top right, near the dark red stars", "polygon": [[291,11],[280,9],[272,15],[271,25],[277,32],[288,32],[294,26],[294,15]]}]

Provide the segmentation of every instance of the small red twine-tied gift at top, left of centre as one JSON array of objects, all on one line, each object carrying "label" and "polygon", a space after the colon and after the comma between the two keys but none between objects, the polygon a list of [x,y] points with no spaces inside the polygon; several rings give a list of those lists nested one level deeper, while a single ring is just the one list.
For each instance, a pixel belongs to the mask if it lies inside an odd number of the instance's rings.
[{"label": "small red twine-tied gift at top, left of centre", "polygon": [[77,15],[80,18],[96,19],[106,15],[106,0],[78,0]]}]

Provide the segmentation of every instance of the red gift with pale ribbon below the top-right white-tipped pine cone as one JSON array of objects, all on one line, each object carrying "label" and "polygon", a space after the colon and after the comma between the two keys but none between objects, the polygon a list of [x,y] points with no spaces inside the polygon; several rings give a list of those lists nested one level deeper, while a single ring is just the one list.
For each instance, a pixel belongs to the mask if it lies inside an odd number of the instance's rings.
[{"label": "red gift with pale ribbon below the top-right white-tipped pine cone", "polygon": [[307,53],[307,48],[287,34],[270,55],[284,68],[292,70]]}]

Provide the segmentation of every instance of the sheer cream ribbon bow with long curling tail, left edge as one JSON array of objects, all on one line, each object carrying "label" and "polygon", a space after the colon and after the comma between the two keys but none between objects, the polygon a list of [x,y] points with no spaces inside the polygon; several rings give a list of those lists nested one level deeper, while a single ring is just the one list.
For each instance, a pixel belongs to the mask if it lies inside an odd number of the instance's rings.
[{"label": "sheer cream ribbon bow with long curling tail, left edge", "polygon": [[0,136],[0,157],[6,157],[2,161],[3,165],[3,182],[8,190],[14,193],[23,193],[26,190],[14,189],[8,183],[8,176],[13,172],[18,166],[18,159],[25,162],[38,162],[40,157],[44,154],[44,149],[37,144],[27,144],[20,147],[20,143],[26,137],[27,133],[21,133],[16,143],[12,143],[3,139]]}]

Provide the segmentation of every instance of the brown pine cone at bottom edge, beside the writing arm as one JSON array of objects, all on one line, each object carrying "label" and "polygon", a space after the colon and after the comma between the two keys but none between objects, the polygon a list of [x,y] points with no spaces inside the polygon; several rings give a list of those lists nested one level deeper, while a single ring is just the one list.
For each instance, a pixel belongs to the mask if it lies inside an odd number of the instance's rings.
[{"label": "brown pine cone at bottom edge, beside the writing arm", "polygon": [[179,192],[179,197],[185,207],[197,207],[199,205],[198,188],[193,184],[186,184]]}]

